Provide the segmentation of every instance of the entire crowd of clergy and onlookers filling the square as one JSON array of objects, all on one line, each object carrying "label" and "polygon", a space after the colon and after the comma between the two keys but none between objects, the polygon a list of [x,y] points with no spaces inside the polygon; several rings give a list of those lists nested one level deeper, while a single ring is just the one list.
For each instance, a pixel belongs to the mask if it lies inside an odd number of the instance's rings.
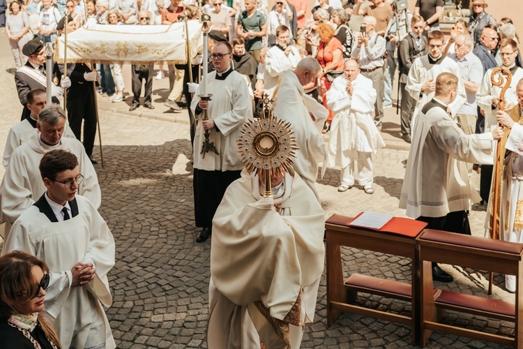
[{"label": "entire crowd of clergy and onlookers filling the square", "polygon": [[[97,211],[92,152],[94,85],[113,102],[123,101],[122,66],[77,63],[64,72],[55,64],[47,70],[57,80],[51,91],[45,70],[45,43],[64,29],[92,24],[164,25],[209,15],[209,52],[169,65],[165,105],[181,112],[185,103],[191,121],[195,225],[202,229],[196,242],[212,237],[213,246],[207,334],[213,348],[299,346],[303,324],[314,318],[324,265],[324,213],[314,184],[319,163],[341,168],[340,193],[356,181],[374,193],[372,161],[385,146],[381,128],[384,109],[393,105],[395,70],[401,136],[410,144],[400,207],[428,228],[471,234],[469,210],[496,206],[485,220],[499,219],[499,237],[488,224],[485,236],[523,242],[522,59],[514,24],[486,13],[485,0],[471,1],[470,20],[458,20],[450,36],[440,31],[441,0],[418,0],[414,13],[386,0],[319,0],[308,20],[305,0],[276,0],[271,9],[266,1],[211,0],[201,11],[193,2],[10,3],[6,32],[24,111],[3,155],[0,285],[10,277],[5,265],[25,269],[17,288],[0,290],[0,321],[8,324],[0,323],[0,333],[52,348],[114,348],[103,312],[112,302],[107,272],[114,240]],[[62,17],[65,10],[69,16]],[[209,71],[202,72],[207,56]],[[512,75],[503,100],[491,82],[499,66]],[[143,84],[143,105],[153,109],[153,65],[133,64],[131,73],[130,111],[142,103]],[[206,86],[190,81],[202,74]],[[160,65],[156,79],[164,76]],[[47,95],[59,103],[64,90],[68,117],[46,105]],[[242,126],[266,112],[260,101],[291,126],[298,148],[291,170],[271,172],[271,198],[264,195],[266,172],[246,171],[238,154]],[[329,133],[328,142],[321,133]],[[494,140],[503,144],[501,154]],[[479,195],[469,179],[474,168],[481,174]],[[497,205],[494,168],[501,179]],[[85,237],[81,244],[78,235]],[[56,251],[63,255],[58,261]],[[432,277],[453,281],[435,263]],[[507,275],[505,286],[513,292],[515,276]],[[38,315],[44,303],[56,331]],[[84,304],[92,318],[78,315]],[[21,325],[20,318],[31,320]]]}]

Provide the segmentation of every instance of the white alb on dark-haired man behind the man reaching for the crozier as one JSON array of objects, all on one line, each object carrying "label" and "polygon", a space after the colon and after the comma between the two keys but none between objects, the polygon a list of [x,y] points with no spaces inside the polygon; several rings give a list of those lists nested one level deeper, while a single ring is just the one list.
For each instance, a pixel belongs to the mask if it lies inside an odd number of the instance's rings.
[{"label": "white alb on dark-haired man behind the man reaching for the crozier", "polygon": [[429,80],[436,82],[436,78],[441,73],[453,73],[457,76],[457,97],[453,103],[448,105],[450,112],[452,112],[453,119],[455,119],[463,103],[467,101],[467,91],[465,91],[461,77],[460,66],[458,66],[453,59],[444,57],[443,59],[439,59],[437,64],[431,64],[428,54],[416,58],[409,70],[406,86],[407,92],[414,98],[414,101],[417,101],[416,109],[414,110],[414,114],[412,114],[411,130],[414,130],[416,126],[417,118],[419,114],[421,114],[423,106],[434,97],[434,91],[421,91],[421,87]]}]

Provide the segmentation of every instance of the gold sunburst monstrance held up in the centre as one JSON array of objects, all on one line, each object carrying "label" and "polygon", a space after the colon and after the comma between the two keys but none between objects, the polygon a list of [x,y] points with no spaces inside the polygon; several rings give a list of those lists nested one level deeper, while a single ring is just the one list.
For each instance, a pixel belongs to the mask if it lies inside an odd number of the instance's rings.
[{"label": "gold sunburst monstrance held up in the centre", "polygon": [[271,198],[271,170],[276,173],[289,171],[298,147],[291,124],[274,116],[274,107],[271,107],[274,101],[264,94],[262,103],[264,112],[261,117],[243,124],[238,148],[249,174],[255,170],[265,171],[264,198]]}]

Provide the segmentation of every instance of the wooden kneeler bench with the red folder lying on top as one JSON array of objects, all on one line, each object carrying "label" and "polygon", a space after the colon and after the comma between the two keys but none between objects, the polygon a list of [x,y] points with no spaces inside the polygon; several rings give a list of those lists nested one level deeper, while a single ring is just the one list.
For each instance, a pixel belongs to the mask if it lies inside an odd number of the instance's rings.
[{"label": "wooden kneeler bench with the red folder lying on top", "polygon": [[[407,237],[375,230],[347,226],[351,218],[334,214],[326,221],[327,255],[327,325],[331,326],[342,311],[379,318],[411,326],[412,343],[419,343],[420,305],[418,304],[419,268],[416,236]],[[344,282],[340,246],[361,248],[368,251],[399,255],[412,260],[412,283],[384,280],[372,276],[352,274]],[[358,292],[366,292],[393,299],[411,302],[411,316],[387,313],[377,309],[367,309],[354,304]],[[414,301],[413,301],[414,300]]]}]

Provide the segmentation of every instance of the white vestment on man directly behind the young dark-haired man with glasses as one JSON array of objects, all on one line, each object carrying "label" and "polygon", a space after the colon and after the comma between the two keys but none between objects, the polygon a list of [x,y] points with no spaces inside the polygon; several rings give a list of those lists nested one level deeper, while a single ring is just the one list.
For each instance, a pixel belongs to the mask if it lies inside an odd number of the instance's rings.
[{"label": "white vestment on man directly behind the young dark-haired man with glasses", "polygon": [[[78,158],[78,168],[84,180],[78,186],[79,195],[85,196],[98,209],[102,202],[102,193],[93,164],[87,156],[84,146],[76,138],[61,138],[61,144],[54,149],[72,152]],[[0,186],[2,218],[13,223],[26,209],[45,193],[46,188],[40,176],[40,160],[50,151],[40,143],[38,134],[17,147],[10,157],[6,174]]]}]

